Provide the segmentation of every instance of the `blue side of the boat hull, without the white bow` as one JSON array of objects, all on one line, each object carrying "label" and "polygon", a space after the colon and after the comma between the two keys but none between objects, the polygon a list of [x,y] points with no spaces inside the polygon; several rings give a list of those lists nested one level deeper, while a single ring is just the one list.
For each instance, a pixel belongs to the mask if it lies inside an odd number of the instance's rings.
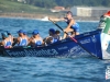
[{"label": "blue side of the boat hull, without the white bow", "polygon": [[[82,45],[82,47],[85,47],[86,50],[90,51],[97,58],[102,59],[100,34],[101,31],[97,30],[80,34],[75,38]],[[86,55],[87,51],[82,47],[70,38],[67,38],[51,46],[38,48],[0,48],[0,55],[8,57],[73,57]]]}]

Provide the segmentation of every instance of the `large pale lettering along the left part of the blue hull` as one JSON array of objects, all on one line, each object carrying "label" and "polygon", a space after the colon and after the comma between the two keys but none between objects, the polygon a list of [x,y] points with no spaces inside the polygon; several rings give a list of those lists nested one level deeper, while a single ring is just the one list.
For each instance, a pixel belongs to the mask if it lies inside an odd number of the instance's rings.
[{"label": "large pale lettering along the left part of the blue hull", "polygon": [[6,50],[9,55],[12,56],[46,56],[46,55],[58,55],[56,49],[23,49],[22,51],[15,51],[15,50]]}]

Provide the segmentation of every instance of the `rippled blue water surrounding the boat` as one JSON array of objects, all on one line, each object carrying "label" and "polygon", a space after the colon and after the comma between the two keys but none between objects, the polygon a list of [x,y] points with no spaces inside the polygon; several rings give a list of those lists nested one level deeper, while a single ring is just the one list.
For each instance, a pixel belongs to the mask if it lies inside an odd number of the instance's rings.
[{"label": "rippled blue water surrounding the boat", "polygon": [[[62,27],[66,23],[58,22]],[[98,22],[79,22],[80,33],[96,30]],[[51,22],[28,19],[0,19],[0,33],[10,31],[15,37],[21,28],[31,36],[37,28],[46,37],[48,28],[58,30]],[[0,82],[110,82],[106,69],[110,60],[91,56],[75,58],[0,57]]]}]

